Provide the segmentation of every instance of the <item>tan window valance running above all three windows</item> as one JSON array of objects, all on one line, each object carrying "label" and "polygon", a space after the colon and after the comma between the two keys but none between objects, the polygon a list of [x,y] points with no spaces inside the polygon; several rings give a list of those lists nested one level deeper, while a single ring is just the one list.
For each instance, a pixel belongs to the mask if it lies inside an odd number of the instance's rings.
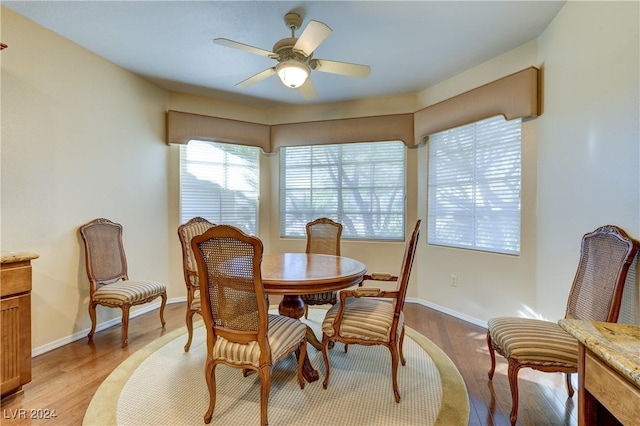
[{"label": "tan window valance running above all three windows", "polygon": [[255,146],[265,153],[283,146],[392,140],[414,146],[430,134],[496,115],[507,120],[537,117],[538,73],[530,67],[408,114],[267,125],[168,111],[167,143],[198,139]]}]

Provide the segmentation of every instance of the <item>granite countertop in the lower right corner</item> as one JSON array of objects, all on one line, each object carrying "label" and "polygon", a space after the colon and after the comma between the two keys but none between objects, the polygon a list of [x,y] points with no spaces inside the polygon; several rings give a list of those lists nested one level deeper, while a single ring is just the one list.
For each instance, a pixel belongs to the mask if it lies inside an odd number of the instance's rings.
[{"label": "granite countertop in the lower right corner", "polygon": [[567,333],[640,388],[640,325],[561,319]]}]

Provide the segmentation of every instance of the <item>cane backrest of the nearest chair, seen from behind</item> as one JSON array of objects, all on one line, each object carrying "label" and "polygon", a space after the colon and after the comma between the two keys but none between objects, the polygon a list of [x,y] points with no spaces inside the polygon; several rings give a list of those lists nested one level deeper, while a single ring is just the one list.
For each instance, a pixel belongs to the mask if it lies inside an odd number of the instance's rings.
[{"label": "cane backrest of the nearest chair, seen from behind", "polygon": [[233,226],[216,225],[195,236],[191,247],[198,265],[202,316],[207,333],[214,335],[207,339],[209,349],[216,336],[236,343],[257,340],[261,356],[270,356],[260,272],[262,242]]}]

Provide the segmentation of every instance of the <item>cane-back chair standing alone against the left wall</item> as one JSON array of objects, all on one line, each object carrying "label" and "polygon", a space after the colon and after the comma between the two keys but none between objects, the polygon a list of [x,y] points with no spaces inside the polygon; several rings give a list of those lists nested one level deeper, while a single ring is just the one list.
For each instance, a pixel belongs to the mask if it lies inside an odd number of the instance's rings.
[{"label": "cane-back chair standing alone against the left wall", "polygon": [[122,347],[129,342],[129,309],[131,306],[149,303],[162,298],[160,322],[165,325],[164,307],[167,289],[157,281],[130,280],[127,258],[122,243],[122,225],[108,219],[95,219],[79,229],[84,242],[85,266],[89,278],[89,316],[93,339],[96,331],[96,306],[102,305],[122,310]]}]

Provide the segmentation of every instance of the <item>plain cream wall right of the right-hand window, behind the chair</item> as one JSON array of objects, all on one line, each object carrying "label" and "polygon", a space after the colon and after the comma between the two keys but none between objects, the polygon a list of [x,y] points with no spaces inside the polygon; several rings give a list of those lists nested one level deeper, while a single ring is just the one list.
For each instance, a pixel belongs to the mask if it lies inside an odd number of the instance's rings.
[{"label": "plain cream wall right of the right-hand window, behind the chair", "polygon": [[546,315],[566,300],[585,230],[611,223],[640,239],[639,9],[568,2],[540,37],[536,301]]}]

